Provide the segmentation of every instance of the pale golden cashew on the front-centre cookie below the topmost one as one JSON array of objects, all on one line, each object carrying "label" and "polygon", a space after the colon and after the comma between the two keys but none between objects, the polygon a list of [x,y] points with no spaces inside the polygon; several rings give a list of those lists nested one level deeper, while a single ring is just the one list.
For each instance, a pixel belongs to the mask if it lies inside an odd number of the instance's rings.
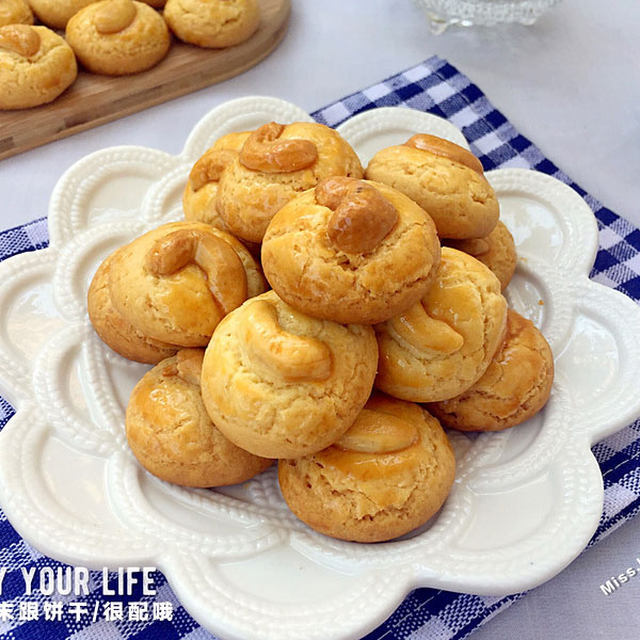
[{"label": "pale golden cashew on the front-centre cookie below the topmost one", "polygon": [[276,307],[252,302],[243,320],[244,344],[250,355],[286,382],[319,382],[332,371],[331,350],[316,338],[283,329]]}]

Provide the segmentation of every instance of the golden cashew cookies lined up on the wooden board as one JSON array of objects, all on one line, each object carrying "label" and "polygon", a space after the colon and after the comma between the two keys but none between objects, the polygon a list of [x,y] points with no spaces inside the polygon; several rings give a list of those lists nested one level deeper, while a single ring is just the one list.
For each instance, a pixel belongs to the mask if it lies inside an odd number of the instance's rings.
[{"label": "golden cashew cookies lined up on the wooden board", "polygon": [[140,73],[167,55],[171,32],[218,49],[244,42],[259,23],[258,0],[0,0],[0,109],[55,100],[77,62],[96,74]]}]

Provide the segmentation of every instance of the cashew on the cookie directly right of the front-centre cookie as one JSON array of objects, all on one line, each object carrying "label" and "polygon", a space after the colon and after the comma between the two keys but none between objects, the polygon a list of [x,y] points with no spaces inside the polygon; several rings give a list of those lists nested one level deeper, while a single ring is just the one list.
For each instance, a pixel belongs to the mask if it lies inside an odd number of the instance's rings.
[{"label": "cashew on the cookie directly right of the front-centre cookie", "polygon": [[398,336],[420,351],[438,351],[450,355],[459,351],[464,338],[446,322],[432,318],[421,302],[389,320]]}]

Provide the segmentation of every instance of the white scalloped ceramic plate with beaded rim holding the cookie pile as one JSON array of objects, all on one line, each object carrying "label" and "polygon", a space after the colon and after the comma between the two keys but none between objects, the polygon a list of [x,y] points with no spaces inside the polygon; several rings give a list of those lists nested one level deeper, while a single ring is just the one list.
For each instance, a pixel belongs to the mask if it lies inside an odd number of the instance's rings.
[{"label": "white scalloped ceramic plate with beaded rim holding the cookie pile", "polygon": [[[106,149],[73,166],[49,211],[48,249],[0,265],[0,391],[17,414],[0,433],[0,503],[42,552],[90,567],[155,565],[225,640],[347,640],[415,586],[503,595],[533,587],[586,545],[602,509],[590,445],[640,414],[640,309],[588,279],[597,226],[569,187],[518,169],[488,174],[520,262],[508,298],[555,354],[545,409],[502,433],[453,434],[458,473],[444,508],[414,535],[358,545],[310,531],[273,470],[224,491],[186,490],[137,465],[123,435],[145,367],[93,333],[85,295],[116,246],[181,217],[189,169],[220,135],[310,120],[273,98],[208,114],[177,157]],[[444,120],[400,108],[343,124],[363,161],[416,131],[459,143]]]}]

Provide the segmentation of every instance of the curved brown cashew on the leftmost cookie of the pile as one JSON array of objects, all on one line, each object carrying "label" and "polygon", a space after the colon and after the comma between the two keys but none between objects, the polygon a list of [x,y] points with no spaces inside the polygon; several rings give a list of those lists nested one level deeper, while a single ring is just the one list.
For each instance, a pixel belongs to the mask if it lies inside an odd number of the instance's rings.
[{"label": "curved brown cashew on the leftmost cookie of the pile", "polygon": [[156,240],[146,257],[149,273],[168,276],[189,264],[205,273],[217,305],[227,314],[247,298],[247,275],[231,245],[198,229],[178,229]]}]

